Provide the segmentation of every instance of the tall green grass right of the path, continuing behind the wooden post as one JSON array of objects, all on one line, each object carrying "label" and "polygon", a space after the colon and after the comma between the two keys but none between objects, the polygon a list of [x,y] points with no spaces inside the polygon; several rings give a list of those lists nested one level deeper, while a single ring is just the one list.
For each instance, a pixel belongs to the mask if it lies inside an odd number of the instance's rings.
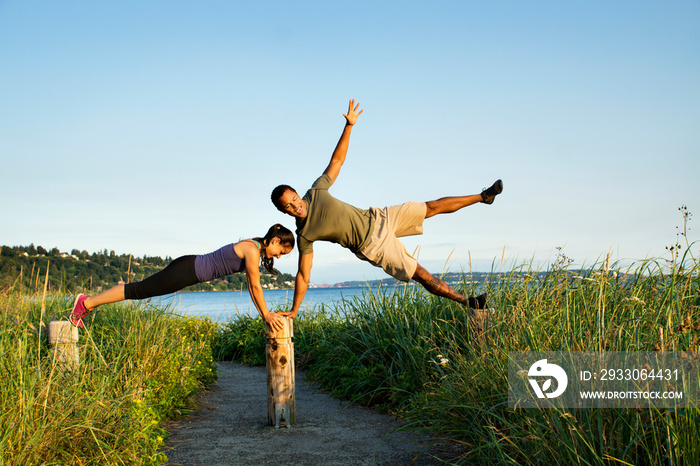
[{"label": "tall green grass right of the path, continuing behind the wooden post", "polygon": [[[700,464],[700,410],[512,409],[510,351],[700,351],[699,263],[492,274],[493,322],[419,287],[366,293],[295,321],[298,365],[338,397],[376,406],[462,447],[457,464]],[[465,275],[464,283],[470,283]],[[260,319],[222,329],[220,357],[264,364]],[[700,384],[700,381],[696,381]]]}]

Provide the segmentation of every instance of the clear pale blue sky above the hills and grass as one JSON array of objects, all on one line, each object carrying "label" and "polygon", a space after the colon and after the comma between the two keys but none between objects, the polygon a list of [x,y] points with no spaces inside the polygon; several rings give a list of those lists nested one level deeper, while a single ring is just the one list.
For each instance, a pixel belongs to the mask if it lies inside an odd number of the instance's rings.
[{"label": "clear pale blue sky above the hills and grass", "polygon": [[[698,1],[0,1],[0,243],[177,257],[293,228],[270,191],[321,174],[349,98],[340,199],[503,179],[405,240],[433,272],[668,257],[700,210]],[[383,276],[315,247],[314,283]]]}]

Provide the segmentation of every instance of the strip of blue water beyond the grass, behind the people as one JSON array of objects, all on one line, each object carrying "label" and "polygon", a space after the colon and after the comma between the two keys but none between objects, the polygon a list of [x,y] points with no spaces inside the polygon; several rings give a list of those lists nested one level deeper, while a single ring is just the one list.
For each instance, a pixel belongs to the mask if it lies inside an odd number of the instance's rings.
[{"label": "strip of blue water beyond the grass, behind the people", "polygon": [[[343,298],[362,297],[363,291],[369,290],[368,286],[309,288],[299,313],[310,312],[318,304],[332,306]],[[268,309],[273,310],[278,306],[291,309],[294,290],[266,290],[264,294]],[[248,290],[175,293],[159,298],[159,302],[172,304],[176,314],[209,317],[214,322],[228,322],[237,315],[259,315]]]}]

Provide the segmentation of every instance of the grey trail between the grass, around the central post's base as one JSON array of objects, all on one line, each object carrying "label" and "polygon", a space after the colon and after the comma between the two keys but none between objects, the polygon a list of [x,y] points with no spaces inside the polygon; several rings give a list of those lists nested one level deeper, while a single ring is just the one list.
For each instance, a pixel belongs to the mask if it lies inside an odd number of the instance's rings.
[{"label": "grey trail between the grass, around the central post's base", "polygon": [[167,425],[170,465],[444,465],[426,437],[392,416],[331,398],[296,374],[296,425],[267,425],[266,371],[218,363],[219,380],[190,416]]}]

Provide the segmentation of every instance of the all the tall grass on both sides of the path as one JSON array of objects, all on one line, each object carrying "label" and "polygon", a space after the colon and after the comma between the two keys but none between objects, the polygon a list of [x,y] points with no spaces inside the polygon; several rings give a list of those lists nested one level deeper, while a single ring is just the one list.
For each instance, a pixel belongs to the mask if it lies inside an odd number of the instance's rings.
[{"label": "all the tall grass on both sides of the path", "polygon": [[[700,351],[693,246],[626,267],[570,271],[560,251],[544,271],[522,265],[478,285],[465,274],[462,292],[490,296],[479,332],[464,308],[420,287],[368,291],[295,320],[297,366],[337,397],[454,442],[456,464],[697,465],[697,406],[507,403],[511,351]],[[260,318],[217,325],[140,303],[102,307],[81,330],[79,367],[64,370],[41,322],[72,303],[36,283],[0,292],[0,465],[164,464],[162,421],[215,380],[214,359],[265,363]]]}]

